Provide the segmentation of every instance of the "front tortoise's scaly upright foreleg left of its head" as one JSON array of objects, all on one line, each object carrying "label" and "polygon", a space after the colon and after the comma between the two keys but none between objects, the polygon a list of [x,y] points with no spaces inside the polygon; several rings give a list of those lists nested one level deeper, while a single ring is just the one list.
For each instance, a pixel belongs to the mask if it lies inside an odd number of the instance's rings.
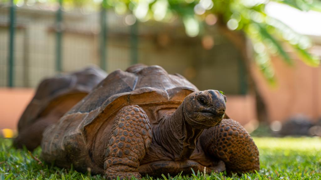
[{"label": "front tortoise's scaly upright foreleg left of its head", "polygon": [[119,110],[115,117],[105,155],[107,179],[141,178],[139,161],[152,141],[152,130],[145,111],[136,105]]}]

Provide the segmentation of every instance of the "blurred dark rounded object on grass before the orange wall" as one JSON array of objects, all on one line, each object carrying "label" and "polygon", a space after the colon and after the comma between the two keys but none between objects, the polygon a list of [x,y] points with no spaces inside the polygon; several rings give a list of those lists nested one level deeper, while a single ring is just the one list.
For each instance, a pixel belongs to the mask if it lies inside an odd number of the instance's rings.
[{"label": "blurred dark rounded object on grass before the orange wall", "polygon": [[301,136],[301,135],[310,135],[309,129],[313,126],[311,120],[302,115],[298,114],[289,118],[286,122],[282,124],[282,128],[279,131],[280,135],[294,135],[294,136]]}]

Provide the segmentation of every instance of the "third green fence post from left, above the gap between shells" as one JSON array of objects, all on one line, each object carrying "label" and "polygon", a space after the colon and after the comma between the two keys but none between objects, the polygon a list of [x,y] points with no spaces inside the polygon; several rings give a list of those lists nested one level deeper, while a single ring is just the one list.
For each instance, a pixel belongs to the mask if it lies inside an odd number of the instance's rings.
[{"label": "third green fence post from left, above the gap between shells", "polygon": [[106,66],[106,0],[103,0],[101,3],[100,11],[100,68],[102,70],[107,70]]}]

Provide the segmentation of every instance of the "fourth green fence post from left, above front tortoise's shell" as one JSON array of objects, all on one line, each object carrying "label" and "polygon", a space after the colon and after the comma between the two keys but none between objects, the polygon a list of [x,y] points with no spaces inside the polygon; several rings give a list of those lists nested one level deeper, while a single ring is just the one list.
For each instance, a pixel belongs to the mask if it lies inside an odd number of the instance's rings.
[{"label": "fourth green fence post from left, above front tortoise's shell", "polygon": [[138,63],[138,20],[130,26],[131,64]]}]

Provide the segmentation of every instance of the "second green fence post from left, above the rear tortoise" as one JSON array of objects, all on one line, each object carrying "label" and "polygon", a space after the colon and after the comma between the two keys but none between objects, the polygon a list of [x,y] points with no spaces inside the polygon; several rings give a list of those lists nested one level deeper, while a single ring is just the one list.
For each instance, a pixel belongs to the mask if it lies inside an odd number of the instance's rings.
[{"label": "second green fence post from left, above the rear tortoise", "polygon": [[62,18],[62,4],[63,0],[59,1],[59,9],[57,11],[57,17],[56,17],[56,71],[61,72],[62,71],[62,30],[63,30],[63,18]]}]

